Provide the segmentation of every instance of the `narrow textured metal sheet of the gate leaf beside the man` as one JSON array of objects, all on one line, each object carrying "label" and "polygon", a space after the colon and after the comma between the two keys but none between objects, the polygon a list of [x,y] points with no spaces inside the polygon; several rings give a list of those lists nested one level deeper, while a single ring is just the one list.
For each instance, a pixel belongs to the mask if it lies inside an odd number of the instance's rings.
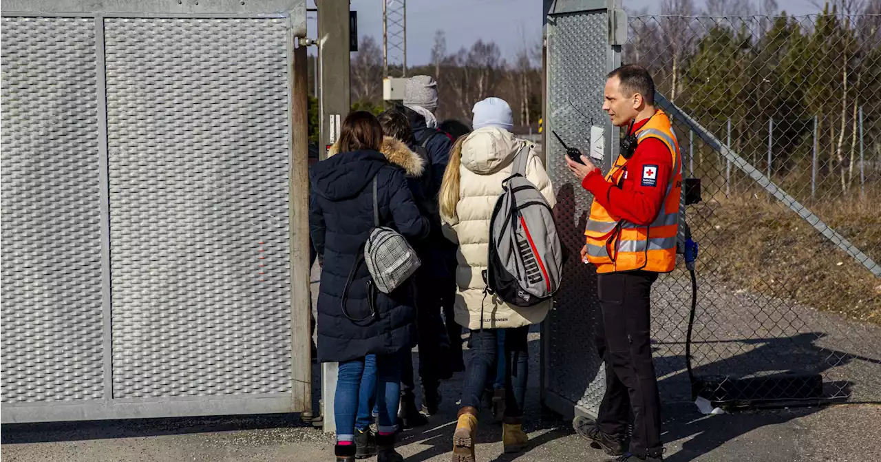
[{"label": "narrow textured metal sheet of the gate leaf beside the man", "polygon": [[[567,145],[588,146],[590,125],[603,126],[608,120],[602,110],[609,71],[607,18],[602,10],[549,19],[547,130],[556,131]],[[546,139],[548,173],[557,188],[557,226],[574,257],[566,263],[565,284],[554,297],[556,308],[544,327],[544,387],[596,414],[605,390],[605,373],[594,344],[595,317],[599,315],[596,273],[578,257],[592,197],[566,168],[562,145],[552,136]],[[571,410],[557,411],[572,414]]]}]

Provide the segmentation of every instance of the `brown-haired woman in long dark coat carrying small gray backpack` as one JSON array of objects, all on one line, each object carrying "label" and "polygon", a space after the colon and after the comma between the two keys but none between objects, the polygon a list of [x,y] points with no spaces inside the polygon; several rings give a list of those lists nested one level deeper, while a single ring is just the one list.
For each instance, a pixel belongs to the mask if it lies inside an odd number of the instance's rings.
[{"label": "brown-haired woman in long dark coat carrying small gray backpack", "polygon": [[[346,294],[346,281],[361,244],[374,228],[373,180],[381,226],[392,227],[408,240],[423,239],[430,230],[413,199],[402,168],[379,152],[382,129],[376,117],[364,111],[345,118],[339,154],[316,163],[309,173],[312,195],[309,227],[315,250],[324,256],[318,294],[318,359],[339,362],[334,414],[337,422],[338,461],[355,457],[354,426],[359,405],[365,357],[375,354],[376,399],[379,406],[379,462],[403,460],[394,438],[400,393],[401,354],[417,342],[416,308],[411,284],[391,294],[375,292],[375,316],[370,317],[367,281],[360,265]],[[343,312],[345,295],[346,312]]]}]

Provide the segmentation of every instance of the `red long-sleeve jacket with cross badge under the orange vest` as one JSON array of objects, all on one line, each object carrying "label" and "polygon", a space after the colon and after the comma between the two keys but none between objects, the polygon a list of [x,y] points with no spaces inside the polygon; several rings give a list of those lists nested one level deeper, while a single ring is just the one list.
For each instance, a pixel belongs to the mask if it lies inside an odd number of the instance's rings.
[{"label": "red long-sleeve jacket with cross badge under the orange vest", "polygon": [[[639,130],[646,123],[648,119],[634,123],[632,130]],[[646,138],[627,161],[620,187],[607,182],[599,168],[585,176],[581,186],[611,215],[648,226],[663,206],[672,169],[673,159],[667,145],[660,139]]]}]

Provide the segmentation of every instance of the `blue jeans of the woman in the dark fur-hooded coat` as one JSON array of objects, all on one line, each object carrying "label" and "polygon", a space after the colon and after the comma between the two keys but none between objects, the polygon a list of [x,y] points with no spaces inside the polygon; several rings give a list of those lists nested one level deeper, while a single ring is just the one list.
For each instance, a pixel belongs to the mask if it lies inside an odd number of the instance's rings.
[{"label": "blue jeans of the woman in the dark fur-hooded coat", "polygon": [[337,441],[353,441],[355,426],[363,429],[370,424],[370,411],[373,407],[371,397],[374,394],[379,407],[378,430],[382,433],[394,433],[397,430],[400,393],[400,354],[368,354],[364,358],[340,362],[334,402]]}]

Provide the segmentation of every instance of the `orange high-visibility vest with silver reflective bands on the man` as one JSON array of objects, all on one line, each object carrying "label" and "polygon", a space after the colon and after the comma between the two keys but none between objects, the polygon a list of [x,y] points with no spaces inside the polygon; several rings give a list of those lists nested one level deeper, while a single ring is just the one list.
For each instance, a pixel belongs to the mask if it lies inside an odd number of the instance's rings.
[{"label": "orange high-visibility vest with silver reflective bands on the man", "polygon": [[[646,138],[663,141],[673,156],[673,170],[661,210],[651,225],[641,226],[616,217],[594,198],[584,235],[588,242],[588,261],[596,272],[671,272],[676,267],[676,243],[679,232],[679,201],[682,193],[682,159],[679,143],[670,118],[661,109],[636,130],[638,143]],[[605,175],[607,182],[620,185],[627,160],[619,155]],[[661,185],[659,185],[661,186]]]}]

